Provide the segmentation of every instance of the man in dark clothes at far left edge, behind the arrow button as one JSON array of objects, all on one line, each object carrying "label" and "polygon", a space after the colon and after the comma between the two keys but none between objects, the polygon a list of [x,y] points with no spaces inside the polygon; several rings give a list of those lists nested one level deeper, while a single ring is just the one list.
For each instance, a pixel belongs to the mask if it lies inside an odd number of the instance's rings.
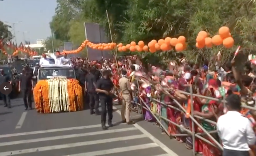
[{"label": "man in dark clothes at far left edge, behind the arrow button", "polygon": [[[9,82],[12,84],[11,77],[9,75],[6,75],[3,69],[0,69],[0,85],[4,82]],[[1,93],[1,97],[4,101],[4,107],[11,108],[11,98],[10,95],[4,95]]]}]

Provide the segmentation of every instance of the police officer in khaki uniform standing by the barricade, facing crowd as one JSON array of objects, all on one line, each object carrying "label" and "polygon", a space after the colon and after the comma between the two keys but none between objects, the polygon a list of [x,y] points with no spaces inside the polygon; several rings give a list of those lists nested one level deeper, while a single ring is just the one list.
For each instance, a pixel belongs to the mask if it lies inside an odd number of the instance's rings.
[{"label": "police officer in khaki uniform standing by the barricade, facing crowd", "polygon": [[129,82],[129,79],[126,77],[127,72],[125,70],[122,70],[122,78],[119,79],[119,87],[121,90],[121,96],[122,96],[122,110],[121,110],[121,116],[123,122],[126,122],[127,124],[133,124],[133,122],[130,120],[130,111],[132,107],[132,89]]}]

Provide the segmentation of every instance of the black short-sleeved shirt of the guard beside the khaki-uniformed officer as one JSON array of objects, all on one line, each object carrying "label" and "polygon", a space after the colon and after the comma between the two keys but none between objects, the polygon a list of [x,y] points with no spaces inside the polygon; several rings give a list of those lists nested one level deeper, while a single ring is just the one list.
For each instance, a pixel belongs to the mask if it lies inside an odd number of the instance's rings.
[{"label": "black short-sleeved shirt of the guard beside the khaki-uniformed officer", "polygon": [[[96,88],[101,89],[101,90],[106,90],[106,91],[111,91],[113,87],[114,87],[114,84],[110,80],[110,78],[105,79],[104,77],[102,77],[101,79],[99,79],[97,81],[97,84],[96,84]],[[99,96],[106,97],[108,95],[106,95],[104,93],[99,93]]]}]

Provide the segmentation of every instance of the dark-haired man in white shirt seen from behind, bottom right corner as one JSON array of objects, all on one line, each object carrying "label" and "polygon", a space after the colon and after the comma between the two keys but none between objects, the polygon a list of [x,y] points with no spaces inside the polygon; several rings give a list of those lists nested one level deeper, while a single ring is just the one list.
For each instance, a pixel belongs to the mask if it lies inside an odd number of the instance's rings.
[{"label": "dark-haired man in white shirt seen from behind, bottom right corner", "polygon": [[228,112],[217,121],[217,131],[224,148],[223,156],[249,156],[249,146],[256,142],[252,123],[240,113],[240,96],[231,94],[226,100]]}]

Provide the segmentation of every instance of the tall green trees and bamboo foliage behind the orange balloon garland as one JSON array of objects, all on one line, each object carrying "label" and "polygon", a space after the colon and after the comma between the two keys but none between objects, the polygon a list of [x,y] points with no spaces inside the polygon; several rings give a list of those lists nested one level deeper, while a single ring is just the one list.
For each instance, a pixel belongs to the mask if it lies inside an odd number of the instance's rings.
[{"label": "tall green trees and bamboo foliage behind the orange balloon garland", "polygon": [[[241,45],[246,52],[256,51],[256,2],[255,0],[57,0],[56,15],[50,26],[55,38],[75,44],[84,39],[83,22],[101,24],[109,30],[106,11],[108,10],[114,42],[124,44],[143,40],[185,36],[187,50],[181,53],[157,52],[139,54],[147,60],[182,57],[202,62],[218,51],[222,51],[223,62]],[[197,49],[195,39],[199,31],[217,34],[222,26],[228,26],[235,39],[232,49],[215,46],[212,49]],[[69,32],[69,33],[67,33]],[[107,35],[110,32],[107,31]]]}]

